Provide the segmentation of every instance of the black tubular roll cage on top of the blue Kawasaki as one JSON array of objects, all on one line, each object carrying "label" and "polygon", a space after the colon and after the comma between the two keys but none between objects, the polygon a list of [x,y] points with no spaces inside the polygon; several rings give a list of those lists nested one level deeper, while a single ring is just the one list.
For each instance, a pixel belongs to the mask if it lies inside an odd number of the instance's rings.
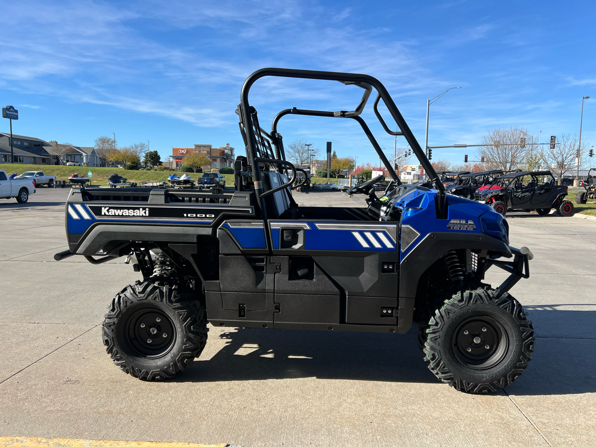
[{"label": "black tubular roll cage on top of the blue Kawasaki", "polygon": [[[257,156],[257,135],[254,132],[254,124],[252,119],[252,114],[256,116],[256,111],[252,108],[249,104],[249,91],[252,87],[253,83],[260,79],[261,77],[265,76],[277,76],[277,77],[296,77],[300,79],[320,79],[320,80],[336,80],[344,85],[357,85],[360,88],[365,89],[364,94],[362,95],[362,99],[358,106],[353,111],[322,111],[322,110],[303,110],[297,108],[288,108],[275,116],[275,119],[272,122],[271,126],[271,134],[267,134],[267,132],[263,131],[259,127],[259,134],[265,134],[268,138],[271,139],[271,142],[274,144],[275,147],[275,157],[276,159],[264,159],[263,157]],[[392,179],[399,183],[399,177],[396,174],[395,170],[393,169],[392,164],[389,163],[387,157],[381,150],[380,146],[378,145],[377,140],[374,138],[373,133],[367,126],[367,123],[359,116],[370,97],[373,88],[376,89],[378,95],[374,102],[374,112],[377,116],[378,120],[380,121],[381,125],[385,129],[385,131],[390,135],[401,135],[405,137],[406,141],[408,142],[409,146],[412,148],[414,155],[417,157],[418,161],[422,165],[423,169],[426,171],[427,175],[429,176],[430,180],[434,182],[434,185],[439,191],[437,200],[437,218],[443,219],[445,215],[445,187],[443,186],[442,182],[439,181],[437,173],[434,171],[432,164],[430,164],[429,159],[424,155],[424,151],[418,144],[418,141],[415,139],[414,134],[410,130],[409,126],[403,119],[402,114],[400,113],[397,105],[393,101],[392,97],[390,97],[389,92],[385,86],[375,77],[369,75],[361,75],[358,73],[339,73],[339,72],[319,72],[315,70],[295,70],[295,69],[280,69],[280,68],[264,68],[257,70],[256,72],[252,73],[249,77],[247,77],[246,81],[244,81],[244,85],[242,86],[242,91],[240,95],[240,104],[238,105],[238,116],[240,117],[240,130],[243,134],[244,143],[246,144],[246,156],[249,160],[250,166],[252,166],[252,177],[254,181],[254,193],[256,195],[256,203],[258,204],[263,219],[266,221],[266,209],[265,203],[263,202],[263,197],[265,195],[269,195],[275,193],[276,191],[283,190],[284,188],[289,187],[291,182],[294,180],[296,176],[296,170],[293,170],[292,180],[287,184],[283,184],[279,187],[272,188],[266,193],[262,193],[262,184],[261,184],[261,170],[259,166],[259,162],[261,163],[271,163],[277,164],[278,169],[281,170],[281,164],[287,164],[285,162],[285,153],[283,149],[283,143],[281,142],[281,138],[277,133],[277,124],[281,117],[287,114],[298,114],[298,115],[308,115],[308,116],[325,116],[325,117],[334,117],[334,118],[351,118],[356,120],[362,127],[364,133],[368,136],[371,144],[375,148],[378,156],[380,157],[381,161],[387,168],[389,175]],[[389,113],[395,120],[396,124],[398,125],[399,132],[391,131],[386,123],[384,122],[381,114],[378,112],[377,105],[380,100],[383,100],[384,104],[386,105]],[[262,138],[262,135],[259,135],[259,138]],[[283,162],[280,162],[283,160]]]}]

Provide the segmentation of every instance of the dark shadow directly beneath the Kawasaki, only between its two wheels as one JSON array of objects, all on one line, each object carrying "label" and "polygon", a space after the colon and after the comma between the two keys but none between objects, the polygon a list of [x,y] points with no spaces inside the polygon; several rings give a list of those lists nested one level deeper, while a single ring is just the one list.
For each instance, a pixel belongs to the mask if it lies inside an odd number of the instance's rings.
[{"label": "dark shadow directly beneath the Kawasaki, only between its two wheels", "polygon": [[[226,346],[208,361],[195,361],[174,381],[331,378],[435,383],[418,350],[415,331],[406,335],[238,329],[220,336]],[[209,342],[207,342],[209,343]]]}]

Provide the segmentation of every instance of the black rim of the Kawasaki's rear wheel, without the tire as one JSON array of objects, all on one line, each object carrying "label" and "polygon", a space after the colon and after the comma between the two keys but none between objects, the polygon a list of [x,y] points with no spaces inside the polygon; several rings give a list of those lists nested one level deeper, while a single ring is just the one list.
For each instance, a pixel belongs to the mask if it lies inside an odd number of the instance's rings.
[{"label": "black rim of the Kawasaki's rear wheel, without the tire", "polygon": [[144,306],[126,319],[126,344],[139,357],[154,359],[166,355],[176,340],[172,320],[155,306]]}]

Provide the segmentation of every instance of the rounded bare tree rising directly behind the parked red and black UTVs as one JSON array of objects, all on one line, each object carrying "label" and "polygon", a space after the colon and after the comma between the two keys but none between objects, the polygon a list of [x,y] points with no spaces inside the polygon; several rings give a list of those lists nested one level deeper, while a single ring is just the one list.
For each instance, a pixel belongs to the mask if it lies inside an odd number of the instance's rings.
[{"label": "rounded bare tree rising directly behind the parked red and black UTVs", "polygon": [[[519,131],[511,128],[495,128],[486,132],[480,147],[480,157],[485,157],[487,169],[512,170],[523,165],[526,160],[526,147],[522,147]],[[489,146],[490,144],[490,146]]]}]

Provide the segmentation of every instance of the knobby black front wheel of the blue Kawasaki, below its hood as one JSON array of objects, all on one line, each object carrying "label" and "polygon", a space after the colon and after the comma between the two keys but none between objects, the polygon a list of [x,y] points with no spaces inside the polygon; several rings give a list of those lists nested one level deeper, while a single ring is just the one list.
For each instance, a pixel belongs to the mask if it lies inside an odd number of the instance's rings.
[{"label": "knobby black front wheel of the blue Kawasaki, below its hood", "polygon": [[426,333],[429,370],[467,393],[510,385],[522,375],[534,350],[532,322],[522,306],[494,290],[455,294],[434,313]]}]

